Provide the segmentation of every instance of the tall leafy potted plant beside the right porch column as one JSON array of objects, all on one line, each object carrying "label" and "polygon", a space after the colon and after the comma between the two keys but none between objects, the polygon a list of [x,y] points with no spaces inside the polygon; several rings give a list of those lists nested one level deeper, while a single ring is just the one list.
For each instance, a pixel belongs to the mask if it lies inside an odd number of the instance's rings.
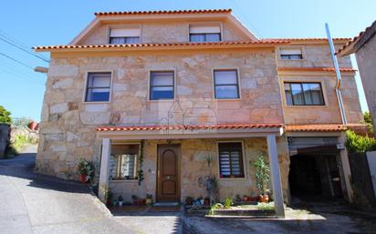
[{"label": "tall leafy potted plant beside the right porch column", "polygon": [[256,168],[256,188],[260,189],[261,194],[266,194],[267,182],[270,180],[270,168],[267,166],[263,155],[256,159],[254,166]]}]

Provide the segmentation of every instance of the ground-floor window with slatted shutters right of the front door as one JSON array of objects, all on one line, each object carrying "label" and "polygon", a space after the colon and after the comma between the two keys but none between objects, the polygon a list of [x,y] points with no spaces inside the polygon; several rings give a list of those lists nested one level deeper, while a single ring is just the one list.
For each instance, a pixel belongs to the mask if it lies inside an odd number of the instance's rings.
[{"label": "ground-floor window with slatted shutters right of the front door", "polygon": [[220,178],[245,178],[241,142],[218,143]]}]

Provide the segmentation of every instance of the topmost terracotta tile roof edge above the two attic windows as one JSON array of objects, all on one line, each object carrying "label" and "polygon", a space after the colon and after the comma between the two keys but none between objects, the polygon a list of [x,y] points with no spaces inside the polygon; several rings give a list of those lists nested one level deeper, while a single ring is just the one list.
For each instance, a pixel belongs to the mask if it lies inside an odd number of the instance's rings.
[{"label": "topmost terracotta tile roof edge above the two attic windows", "polygon": [[215,14],[231,13],[231,9],[206,9],[206,10],[172,10],[172,11],[130,11],[130,12],[96,12],[96,16],[109,15],[178,15],[178,14]]}]

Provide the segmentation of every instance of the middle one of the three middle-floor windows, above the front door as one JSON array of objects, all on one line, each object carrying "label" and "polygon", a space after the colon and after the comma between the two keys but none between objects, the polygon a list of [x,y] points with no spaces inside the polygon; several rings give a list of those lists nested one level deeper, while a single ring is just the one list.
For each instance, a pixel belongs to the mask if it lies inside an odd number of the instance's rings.
[{"label": "middle one of the three middle-floor windows, above the front door", "polygon": [[150,99],[173,99],[173,71],[151,72]]}]

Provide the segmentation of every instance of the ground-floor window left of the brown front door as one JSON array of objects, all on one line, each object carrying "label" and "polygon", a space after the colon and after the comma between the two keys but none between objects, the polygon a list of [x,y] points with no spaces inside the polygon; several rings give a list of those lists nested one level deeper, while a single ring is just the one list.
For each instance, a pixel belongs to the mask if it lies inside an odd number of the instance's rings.
[{"label": "ground-floor window left of the brown front door", "polygon": [[140,145],[112,145],[110,179],[136,179]]}]

